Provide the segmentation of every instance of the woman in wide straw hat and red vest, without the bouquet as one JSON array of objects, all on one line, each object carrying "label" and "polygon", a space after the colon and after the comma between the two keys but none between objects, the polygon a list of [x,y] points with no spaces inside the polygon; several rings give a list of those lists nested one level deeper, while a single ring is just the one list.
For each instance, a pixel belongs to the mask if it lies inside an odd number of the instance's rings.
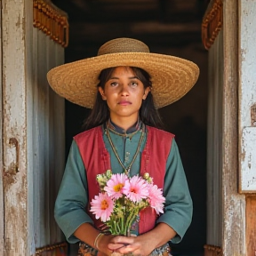
[{"label": "woman in wide straw hat and red vest, without the bouquet", "polygon": [[[55,92],[92,108],[87,131],[74,137],[55,204],[55,219],[68,242],[81,242],[79,255],[168,255],[168,242],[179,243],[184,236],[192,201],[174,135],[158,129],[157,108],[179,100],[198,74],[195,63],[150,53],[131,38],[111,40],[97,57],[48,73]],[[163,188],[164,214],[141,213],[135,236],[101,233],[102,223],[90,212],[99,193],[95,177],[108,169],[130,177],[149,174]]]}]

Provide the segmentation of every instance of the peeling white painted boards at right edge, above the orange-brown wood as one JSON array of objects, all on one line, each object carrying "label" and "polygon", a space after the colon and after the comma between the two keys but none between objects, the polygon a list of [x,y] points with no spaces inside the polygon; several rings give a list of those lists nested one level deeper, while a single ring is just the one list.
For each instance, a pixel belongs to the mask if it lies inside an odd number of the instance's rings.
[{"label": "peeling white painted boards at right edge, above the orange-brown wood", "polygon": [[241,193],[256,193],[256,126],[251,108],[256,104],[256,2],[239,1],[239,162]]}]

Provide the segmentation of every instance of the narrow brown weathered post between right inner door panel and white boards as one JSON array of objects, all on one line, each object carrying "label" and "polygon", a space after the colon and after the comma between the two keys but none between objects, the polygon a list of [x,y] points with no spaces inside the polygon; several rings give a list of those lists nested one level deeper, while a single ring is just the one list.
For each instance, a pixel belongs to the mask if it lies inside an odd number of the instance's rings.
[{"label": "narrow brown weathered post between right inner door panel and white boards", "polygon": [[223,113],[222,113],[222,249],[226,256],[245,256],[245,196],[237,193],[238,6],[223,2]]}]

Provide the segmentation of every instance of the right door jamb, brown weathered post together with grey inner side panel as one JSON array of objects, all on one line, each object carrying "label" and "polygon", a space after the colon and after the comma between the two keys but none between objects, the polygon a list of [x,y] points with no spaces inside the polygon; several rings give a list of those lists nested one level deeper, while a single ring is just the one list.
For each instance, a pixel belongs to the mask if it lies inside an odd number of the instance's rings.
[{"label": "right door jamb, brown weathered post together with grey inner side panel", "polygon": [[245,197],[237,193],[237,7],[236,0],[223,1],[223,29],[209,52],[207,244],[225,256],[246,253]]}]

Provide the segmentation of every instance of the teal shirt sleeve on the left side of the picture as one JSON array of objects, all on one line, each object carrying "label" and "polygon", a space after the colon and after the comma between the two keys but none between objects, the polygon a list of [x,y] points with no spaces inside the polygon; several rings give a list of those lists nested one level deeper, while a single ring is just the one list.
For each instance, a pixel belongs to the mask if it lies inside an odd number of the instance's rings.
[{"label": "teal shirt sleeve on the left side of the picture", "polygon": [[84,211],[87,203],[84,163],[76,142],[73,140],[54,208],[55,220],[71,244],[79,241],[73,235],[76,228],[85,222],[93,223]]}]

